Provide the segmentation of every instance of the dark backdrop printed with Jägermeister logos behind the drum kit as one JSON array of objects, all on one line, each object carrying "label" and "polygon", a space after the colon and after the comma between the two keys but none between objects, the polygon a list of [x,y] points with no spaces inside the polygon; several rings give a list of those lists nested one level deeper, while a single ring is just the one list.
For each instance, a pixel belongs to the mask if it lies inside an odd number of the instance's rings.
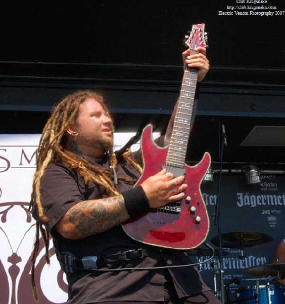
[{"label": "dark backdrop printed with J\u00e4germeister logos behind the drum kit", "polygon": [[[201,191],[207,206],[210,218],[210,231],[206,242],[219,249],[213,239],[218,238],[218,227],[215,221],[216,203],[218,201],[219,176],[214,175],[213,182],[202,182]],[[220,228],[222,235],[237,232],[252,232],[253,237],[262,234],[272,240],[264,244],[257,241],[248,241],[245,248],[223,249],[223,278],[225,283],[230,283],[234,278],[240,280],[240,284],[231,284],[230,292],[233,294],[236,288],[266,284],[268,277],[252,276],[244,271],[257,265],[272,263],[275,256],[277,243],[285,238],[285,178],[283,175],[261,175],[261,182],[247,185],[243,174],[222,175],[220,183]],[[257,234],[256,234],[257,233]],[[251,236],[251,234],[249,234]],[[269,239],[269,238],[268,238]],[[215,244],[213,244],[213,242]],[[226,243],[225,241],[223,241]],[[261,242],[262,243],[262,242]],[[227,243],[228,244],[228,243]],[[259,244],[259,245],[258,245]],[[224,246],[226,244],[223,244]],[[251,246],[258,245],[258,246]],[[203,246],[204,247],[204,246]],[[240,246],[237,246],[240,247]],[[205,261],[209,256],[195,257],[197,261]],[[214,288],[214,272],[211,262],[216,261],[218,273],[219,255],[211,261],[201,263],[199,270],[206,283]],[[265,279],[266,278],[266,279]],[[270,279],[270,278],[269,278]],[[236,280],[236,282],[238,282]],[[219,288],[219,282],[217,287]]]}]

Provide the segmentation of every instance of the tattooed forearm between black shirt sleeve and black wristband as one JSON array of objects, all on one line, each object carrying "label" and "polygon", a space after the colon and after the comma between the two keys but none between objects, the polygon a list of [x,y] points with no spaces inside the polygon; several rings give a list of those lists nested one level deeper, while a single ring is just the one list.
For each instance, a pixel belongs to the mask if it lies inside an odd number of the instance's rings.
[{"label": "tattooed forearm between black shirt sleeve and black wristband", "polygon": [[80,239],[107,231],[128,218],[124,198],[118,195],[79,202],[67,211],[60,226],[65,237]]}]

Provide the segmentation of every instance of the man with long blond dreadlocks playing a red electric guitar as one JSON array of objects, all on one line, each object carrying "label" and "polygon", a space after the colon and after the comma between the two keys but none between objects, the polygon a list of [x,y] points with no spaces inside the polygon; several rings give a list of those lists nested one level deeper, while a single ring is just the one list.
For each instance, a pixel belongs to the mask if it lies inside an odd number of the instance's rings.
[{"label": "man with long blond dreadlocks playing a red electric guitar", "polygon": [[[198,68],[200,82],[209,61],[205,48],[196,51],[182,57]],[[159,139],[163,144],[172,123],[173,117]],[[52,236],[69,304],[220,303],[194,267],[167,268],[170,262],[191,264],[184,252],[139,243],[123,231],[121,223],[181,200],[187,187],[183,176],[165,169],[134,187],[141,172],[139,151],[119,158],[113,153],[113,123],[99,93],[78,91],[55,107],[42,132],[33,181],[35,297],[39,237],[49,262]]]}]

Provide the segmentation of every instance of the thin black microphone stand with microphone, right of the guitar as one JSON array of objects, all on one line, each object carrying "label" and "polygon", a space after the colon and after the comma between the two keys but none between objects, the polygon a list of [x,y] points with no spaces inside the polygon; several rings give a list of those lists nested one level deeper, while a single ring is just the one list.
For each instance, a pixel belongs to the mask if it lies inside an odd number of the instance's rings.
[{"label": "thin black microphone stand with microphone, right of the guitar", "polygon": [[[222,134],[222,136],[221,136]],[[222,137],[222,140],[221,140]],[[221,179],[222,179],[222,163],[223,163],[223,152],[224,146],[227,145],[226,134],[223,123],[219,123],[219,162],[220,162],[220,170],[219,170],[219,179],[218,179],[218,191],[217,191],[217,202],[215,208],[215,225],[218,229],[218,237],[219,237],[219,261],[220,261],[220,300],[222,304],[225,303],[224,299],[224,281],[223,281],[223,255],[222,255],[222,238],[221,238],[221,216],[220,216],[220,187],[221,187]]]}]

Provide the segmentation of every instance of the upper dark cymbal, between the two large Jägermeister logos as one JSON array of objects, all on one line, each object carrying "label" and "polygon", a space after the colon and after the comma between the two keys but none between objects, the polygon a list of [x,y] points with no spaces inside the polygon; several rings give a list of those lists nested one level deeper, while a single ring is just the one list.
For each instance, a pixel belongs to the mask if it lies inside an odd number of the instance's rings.
[{"label": "upper dark cymbal, between the two large J\u00e4germeister logos", "polygon": [[[273,238],[259,232],[236,231],[222,234],[221,240],[224,248],[246,248],[263,246],[270,243]],[[212,238],[211,242],[219,246],[219,236]]]}]

